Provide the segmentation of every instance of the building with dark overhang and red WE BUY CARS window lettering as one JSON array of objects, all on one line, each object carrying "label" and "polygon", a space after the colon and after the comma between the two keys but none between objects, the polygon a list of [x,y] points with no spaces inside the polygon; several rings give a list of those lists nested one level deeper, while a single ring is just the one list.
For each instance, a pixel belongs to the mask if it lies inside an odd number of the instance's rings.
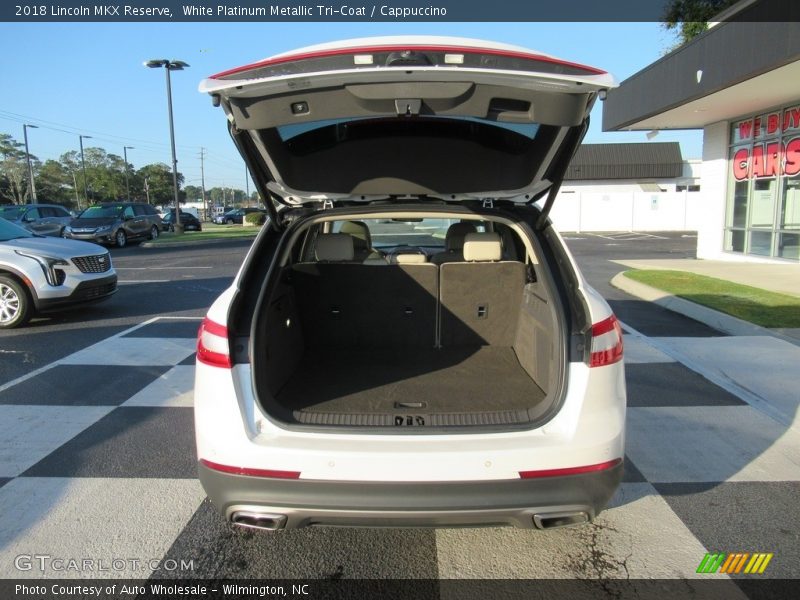
[{"label": "building with dark overhang and red WE BUY CARS window lettering", "polygon": [[698,257],[800,262],[800,3],[715,21],[610,90],[603,129],[702,129]]}]

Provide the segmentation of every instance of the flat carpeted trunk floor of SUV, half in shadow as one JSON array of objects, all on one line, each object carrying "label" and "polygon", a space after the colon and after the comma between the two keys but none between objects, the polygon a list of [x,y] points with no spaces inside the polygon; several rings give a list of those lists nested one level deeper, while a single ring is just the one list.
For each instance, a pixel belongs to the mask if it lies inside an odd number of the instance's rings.
[{"label": "flat carpeted trunk floor of SUV, half in shadow", "polygon": [[276,399],[292,411],[400,414],[527,410],[544,395],[513,348],[330,348],[306,353]]}]

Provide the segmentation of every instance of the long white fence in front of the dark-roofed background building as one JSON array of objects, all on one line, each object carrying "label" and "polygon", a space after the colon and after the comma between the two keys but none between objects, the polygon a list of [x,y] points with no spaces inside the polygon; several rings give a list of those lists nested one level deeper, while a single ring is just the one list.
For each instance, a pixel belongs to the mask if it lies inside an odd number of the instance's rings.
[{"label": "long white fence in front of the dark-roofed background building", "polygon": [[559,231],[696,231],[702,192],[561,192],[550,218]]}]

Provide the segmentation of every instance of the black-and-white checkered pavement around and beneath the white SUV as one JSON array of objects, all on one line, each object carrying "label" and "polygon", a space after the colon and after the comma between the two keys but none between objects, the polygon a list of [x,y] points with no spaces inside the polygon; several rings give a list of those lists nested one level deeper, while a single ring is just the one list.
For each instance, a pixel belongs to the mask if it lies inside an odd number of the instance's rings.
[{"label": "black-and-white checkered pavement around and beneath the white SUV", "polygon": [[[229,527],[196,480],[197,326],[155,319],[0,386],[0,578],[87,576],[19,571],[32,554],[126,561],[103,577],[680,578],[706,551],[797,576],[796,346],[627,334],[626,473],[592,525],[270,535]],[[192,570],[131,566],[169,558]]]}]

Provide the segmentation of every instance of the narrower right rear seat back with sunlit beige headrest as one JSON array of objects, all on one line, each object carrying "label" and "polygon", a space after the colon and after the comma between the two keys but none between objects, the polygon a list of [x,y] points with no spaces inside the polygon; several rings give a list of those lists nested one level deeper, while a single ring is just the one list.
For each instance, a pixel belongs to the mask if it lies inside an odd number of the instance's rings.
[{"label": "narrower right rear seat back with sunlit beige headrest", "polygon": [[496,233],[468,233],[465,262],[441,265],[441,344],[513,346],[525,287],[525,264],[502,261]]}]

